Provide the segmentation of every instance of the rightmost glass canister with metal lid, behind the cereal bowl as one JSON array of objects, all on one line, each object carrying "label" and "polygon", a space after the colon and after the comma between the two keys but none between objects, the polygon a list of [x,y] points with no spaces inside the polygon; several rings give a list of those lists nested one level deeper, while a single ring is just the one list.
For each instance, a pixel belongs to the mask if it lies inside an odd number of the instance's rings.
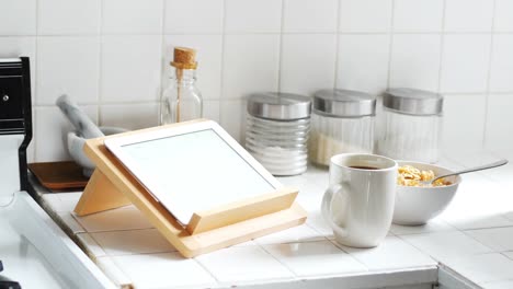
[{"label": "rightmost glass canister with metal lid, behind the cereal bowl", "polygon": [[396,160],[438,160],[444,97],[415,89],[389,89],[383,97],[383,129],[376,153]]}]

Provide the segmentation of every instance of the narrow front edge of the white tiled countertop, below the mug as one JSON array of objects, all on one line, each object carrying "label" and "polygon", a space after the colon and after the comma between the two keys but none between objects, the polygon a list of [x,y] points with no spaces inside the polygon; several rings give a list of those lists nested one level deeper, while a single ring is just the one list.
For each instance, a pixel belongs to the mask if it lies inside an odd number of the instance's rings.
[{"label": "narrow front edge of the white tiled countertop, below the mug", "polygon": [[319,275],[305,278],[252,280],[248,282],[219,284],[212,288],[242,288],[242,289],[295,289],[298,288],[330,288],[338,286],[344,289],[366,289],[395,286],[412,286],[421,284],[436,284],[438,280],[438,266],[421,266],[400,268],[395,270],[369,270],[362,273],[347,273],[344,275]]}]

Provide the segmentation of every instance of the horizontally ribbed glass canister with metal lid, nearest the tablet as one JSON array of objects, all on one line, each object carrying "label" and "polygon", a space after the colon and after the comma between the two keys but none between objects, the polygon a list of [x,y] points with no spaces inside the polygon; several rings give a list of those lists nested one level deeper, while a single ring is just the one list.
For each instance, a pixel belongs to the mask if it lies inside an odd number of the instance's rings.
[{"label": "horizontally ribbed glass canister with metal lid, nearest the tablet", "polygon": [[246,149],[273,175],[307,170],[310,97],[258,93],[248,99]]}]

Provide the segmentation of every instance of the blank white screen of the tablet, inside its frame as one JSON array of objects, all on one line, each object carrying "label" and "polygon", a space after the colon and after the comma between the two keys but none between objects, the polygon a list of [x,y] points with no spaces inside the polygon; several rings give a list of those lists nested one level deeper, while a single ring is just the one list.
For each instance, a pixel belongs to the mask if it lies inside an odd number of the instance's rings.
[{"label": "blank white screen of the tablet, inside its frame", "polygon": [[144,172],[139,182],[184,224],[194,212],[275,189],[213,129],[122,148]]}]

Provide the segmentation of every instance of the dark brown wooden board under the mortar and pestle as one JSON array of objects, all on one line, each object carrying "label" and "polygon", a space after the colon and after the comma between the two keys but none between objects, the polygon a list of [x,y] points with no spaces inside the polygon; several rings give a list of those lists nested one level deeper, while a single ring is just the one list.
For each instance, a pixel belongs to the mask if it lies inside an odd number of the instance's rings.
[{"label": "dark brown wooden board under the mortar and pestle", "polygon": [[29,169],[44,187],[53,190],[83,189],[89,181],[73,161],[30,163]]}]

